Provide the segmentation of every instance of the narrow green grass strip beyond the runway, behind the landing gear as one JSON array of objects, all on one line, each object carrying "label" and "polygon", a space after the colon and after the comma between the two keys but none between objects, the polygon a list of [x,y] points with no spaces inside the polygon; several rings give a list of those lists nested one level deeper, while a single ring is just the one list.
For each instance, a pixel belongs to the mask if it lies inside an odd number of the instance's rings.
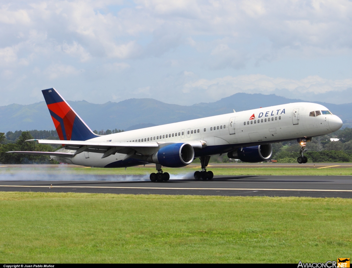
[{"label": "narrow green grass strip beyond the runway, behind the landing gear", "polygon": [[[335,166],[338,164],[331,164]],[[164,172],[170,174],[187,174],[193,173],[200,168],[181,167],[181,168],[167,168],[163,167]],[[352,175],[351,167],[332,167],[332,168],[313,168],[313,167],[246,167],[246,168],[212,168],[207,167],[207,170],[214,172],[214,175]],[[54,168],[41,168],[31,167],[28,169],[16,167],[2,167],[0,173],[17,173],[17,172],[35,172],[35,173],[54,173],[58,172],[68,174],[127,174],[127,175],[144,175],[156,172],[155,167],[128,167],[125,168],[90,168],[90,167],[54,167]]]}]

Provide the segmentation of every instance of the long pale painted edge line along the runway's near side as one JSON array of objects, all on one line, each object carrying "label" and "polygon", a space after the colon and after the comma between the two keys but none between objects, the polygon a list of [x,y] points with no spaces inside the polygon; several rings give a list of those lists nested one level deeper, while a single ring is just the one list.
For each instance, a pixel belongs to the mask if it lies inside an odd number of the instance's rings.
[{"label": "long pale painted edge line along the runway's near side", "polygon": [[246,190],[246,191],[322,191],[352,192],[352,190],[319,190],[319,189],[253,189],[253,188],[171,188],[171,187],[117,187],[117,186],[33,186],[33,185],[0,185],[0,187],[40,187],[40,188],[104,188],[104,189],[154,189],[154,190]]}]

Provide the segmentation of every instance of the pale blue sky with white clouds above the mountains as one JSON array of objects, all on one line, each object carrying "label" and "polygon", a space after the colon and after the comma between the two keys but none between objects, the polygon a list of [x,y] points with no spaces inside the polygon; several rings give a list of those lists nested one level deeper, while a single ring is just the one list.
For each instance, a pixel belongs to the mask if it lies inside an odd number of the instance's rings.
[{"label": "pale blue sky with white clouds above the mountains", "polygon": [[[352,102],[352,2],[2,1],[0,106],[237,92]],[[265,105],[265,104],[263,104]]]}]

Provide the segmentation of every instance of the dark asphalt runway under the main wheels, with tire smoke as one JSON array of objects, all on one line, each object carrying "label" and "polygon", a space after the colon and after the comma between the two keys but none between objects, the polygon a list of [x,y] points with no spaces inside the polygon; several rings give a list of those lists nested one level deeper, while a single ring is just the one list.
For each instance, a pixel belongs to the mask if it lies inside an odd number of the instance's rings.
[{"label": "dark asphalt runway under the main wheels, with tire smoke", "polygon": [[144,175],[70,175],[69,181],[51,174],[45,180],[38,174],[14,176],[0,174],[0,191],[352,198],[352,176],[214,176],[159,183]]}]

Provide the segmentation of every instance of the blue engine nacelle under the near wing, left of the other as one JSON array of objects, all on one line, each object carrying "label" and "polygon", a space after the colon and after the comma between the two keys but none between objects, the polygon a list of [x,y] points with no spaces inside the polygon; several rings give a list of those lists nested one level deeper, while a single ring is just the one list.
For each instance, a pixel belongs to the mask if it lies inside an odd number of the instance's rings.
[{"label": "blue engine nacelle under the near wing, left of the other", "polygon": [[166,145],[152,155],[152,162],[164,167],[184,167],[194,158],[194,150],[188,143]]}]

